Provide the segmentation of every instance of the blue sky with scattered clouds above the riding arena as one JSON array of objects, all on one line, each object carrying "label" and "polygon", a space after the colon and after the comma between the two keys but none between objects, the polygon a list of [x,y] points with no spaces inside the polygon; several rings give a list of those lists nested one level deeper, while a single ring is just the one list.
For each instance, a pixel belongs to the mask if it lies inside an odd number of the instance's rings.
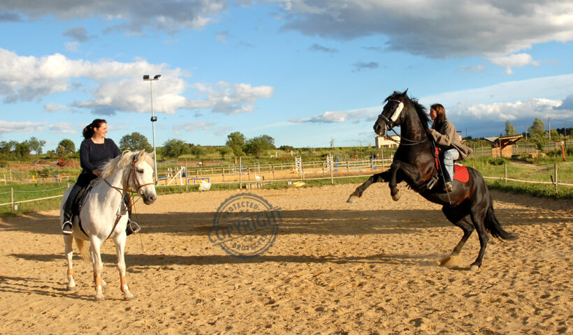
[{"label": "blue sky with scattered clouds above the riding arena", "polygon": [[405,89],[464,135],[573,127],[571,1],[0,0],[0,29],[0,141],[45,151],[95,118],[151,142],[145,74],[158,146],[374,144]]}]

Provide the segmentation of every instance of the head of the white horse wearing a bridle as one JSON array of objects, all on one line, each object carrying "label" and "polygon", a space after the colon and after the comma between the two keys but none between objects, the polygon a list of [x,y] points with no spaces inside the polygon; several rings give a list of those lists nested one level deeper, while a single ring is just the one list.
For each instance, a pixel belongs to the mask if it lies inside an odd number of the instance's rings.
[{"label": "head of the white horse wearing a bridle", "polygon": [[136,153],[131,162],[131,177],[127,181],[129,188],[136,190],[145,204],[152,204],[157,199],[152,166],[154,154],[145,154],[145,150]]}]

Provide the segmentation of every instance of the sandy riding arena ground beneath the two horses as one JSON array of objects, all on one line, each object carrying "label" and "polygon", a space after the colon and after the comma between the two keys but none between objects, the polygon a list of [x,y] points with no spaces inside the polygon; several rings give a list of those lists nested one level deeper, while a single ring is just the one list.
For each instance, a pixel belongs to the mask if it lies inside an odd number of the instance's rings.
[{"label": "sandy riding arena ground beneath the two horses", "polygon": [[[462,235],[440,207],[404,186],[251,190],[282,221],[254,258],[208,239],[219,204],[239,191],[138,202],[122,301],[115,246],[102,247],[106,300],[75,248],[67,293],[58,211],[0,219],[0,334],[573,334],[573,202],[493,191],[516,241],[490,239],[484,265],[472,234],[458,267],[435,264]],[[244,191],[243,191],[244,192]]]}]

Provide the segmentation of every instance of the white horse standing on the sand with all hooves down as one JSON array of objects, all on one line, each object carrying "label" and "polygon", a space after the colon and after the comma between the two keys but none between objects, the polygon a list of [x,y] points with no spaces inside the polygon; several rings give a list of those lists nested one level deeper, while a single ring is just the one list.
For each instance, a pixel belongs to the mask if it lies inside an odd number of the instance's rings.
[{"label": "white horse standing on the sand with all hooves down", "polygon": [[[101,279],[103,263],[101,262],[100,246],[103,241],[112,238],[117,253],[117,269],[124,300],[133,299],[129,292],[125,276],[125,239],[127,225],[127,209],[124,205],[124,193],[134,190],[140,193],[145,204],[152,204],[157,199],[153,183],[153,154],[145,151],[126,151],[122,156],[113,158],[103,167],[98,179],[92,181],[94,188],[80,212],[82,229],[78,225],[78,217],[73,218],[73,234],[64,234],[66,243],[66,258],[68,260],[68,291],[75,291],[75,281],[72,269],[72,240],[78,245],[82,258],[92,260],[94,265],[94,282],[96,286],[96,301],[103,300]],[[64,219],[64,204],[71,187],[64,193],[60,207],[60,222]],[[85,244],[91,242],[91,248]]]}]

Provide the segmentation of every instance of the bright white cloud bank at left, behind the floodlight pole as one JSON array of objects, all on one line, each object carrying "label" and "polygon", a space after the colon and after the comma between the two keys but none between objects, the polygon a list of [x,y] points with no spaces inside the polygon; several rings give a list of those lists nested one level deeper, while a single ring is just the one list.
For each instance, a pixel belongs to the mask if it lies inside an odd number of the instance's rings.
[{"label": "bright white cloud bank at left, behind the floodlight pole", "polygon": [[[148,113],[151,111],[150,83],[142,79],[143,73],[161,73],[153,83],[154,112],[175,114],[184,109],[210,109],[212,112],[237,114],[252,112],[259,98],[273,96],[273,87],[251,84],[194,84],[202,100],[184,96],[189,89],[187,73],[168,64],[149,64],[145,60],[122,63],[119,61],[91,62],[68,59],[62,54],[44,57],[24,57],[0,48],[0,96],[5,103],[38,101],[44,96],[75,89],[73,78],[94,80],[93,98],[71,103],[97,115],[117,112]],[[61,110],[61,105],[45,105],[45,110]]]}]

